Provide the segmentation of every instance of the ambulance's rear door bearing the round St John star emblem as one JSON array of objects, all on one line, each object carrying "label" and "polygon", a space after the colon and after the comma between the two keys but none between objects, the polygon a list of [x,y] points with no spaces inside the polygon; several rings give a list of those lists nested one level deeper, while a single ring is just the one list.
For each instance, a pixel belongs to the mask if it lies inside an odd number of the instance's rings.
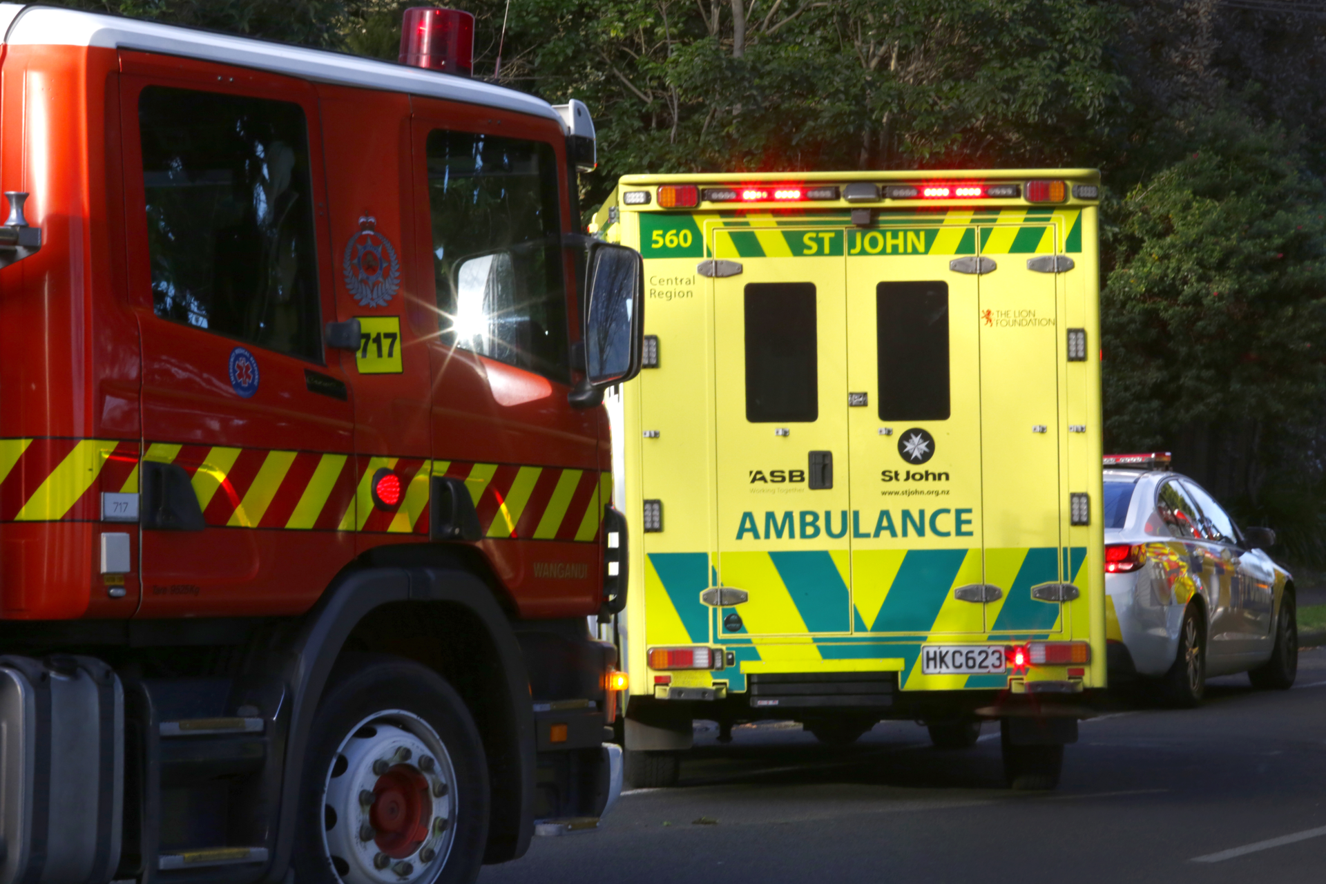
[{"label": "ambulance's rear door bearing the round St John star emblem", "polygon": [[[847,231],[855,631],[985,628],[971,225]],[[956,592],[960,587],[968,587]],[[965,596],[965,598],[964,598]]]}]

